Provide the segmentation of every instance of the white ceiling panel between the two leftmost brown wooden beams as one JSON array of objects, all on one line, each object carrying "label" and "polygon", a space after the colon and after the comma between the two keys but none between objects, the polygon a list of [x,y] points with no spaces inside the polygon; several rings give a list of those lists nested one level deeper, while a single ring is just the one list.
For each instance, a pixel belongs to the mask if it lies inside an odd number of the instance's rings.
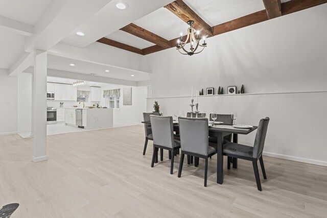
[{"label": "white ceiling panel between the two leftmost brown wooden beams", "polygon": [[124,44],[128,44],[133,47],[137,47],[137,49],[144,49],[145,47],[150,47],[152,45],[155,45],[152,42],[138,38],[137,36],[126,33],[121,30],[111,33],[110,35],[106,36],[106,38],[112,39],[114,41],[118,41],[118,42],[121,42]]}]

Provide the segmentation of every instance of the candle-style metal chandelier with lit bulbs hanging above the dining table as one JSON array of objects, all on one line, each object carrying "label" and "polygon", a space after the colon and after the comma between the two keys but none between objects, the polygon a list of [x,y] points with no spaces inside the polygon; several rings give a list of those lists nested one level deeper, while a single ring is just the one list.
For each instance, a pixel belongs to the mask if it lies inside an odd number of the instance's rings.
[{"label": "candle-style metal chandelier with lit bulbs hanging above the dining table", "polygon": [[[203,36],[203,43],[200,44],[200,38],[199,38],[199,34],[200,31],[197,31],[197,37],[195,37],[194,35],[194,28],[192,27],[194,21],[193,20],[189,20],[188,21],[188,25],[190,25],[190,28],[188,28],[188,36],[186,37],[186,40],[183,41],[182,39],[182,33],[180,34],[180,38],[177,40],[177,45],[176,48],[178,50],[178,52],[182,55],[194,55],[194,54],[199,54],[200,52],[202,52],[204,50],[204,47],[206,47],[206,43],[205,43],[205,36]],[[189,51],[187,51],[185,49],[185,45],[186,43],[190,42],[190,49]],[[202,47],[201,51],[196,52],[198,47]],[[182,51],[181,51],[182,49]]]}]

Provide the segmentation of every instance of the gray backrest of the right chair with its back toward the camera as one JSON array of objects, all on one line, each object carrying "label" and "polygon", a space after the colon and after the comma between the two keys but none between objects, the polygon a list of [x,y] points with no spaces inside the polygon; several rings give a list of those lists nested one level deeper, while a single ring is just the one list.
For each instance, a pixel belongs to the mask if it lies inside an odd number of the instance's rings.
[{"label": "gray backrest of the right chair with its back toward the camera", "polygon": [[182,151],[208,155],[208,119],[179,117],[178,123]]}]

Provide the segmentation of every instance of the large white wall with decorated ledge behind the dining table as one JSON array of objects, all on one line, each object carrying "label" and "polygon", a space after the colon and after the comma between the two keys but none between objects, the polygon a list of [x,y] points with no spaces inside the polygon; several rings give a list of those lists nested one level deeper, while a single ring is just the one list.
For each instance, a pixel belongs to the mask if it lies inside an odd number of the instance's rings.
[{"label": "large white wall with decorated ledge behind the dining table", "polygon": [[[190,96],[191,86],[204,92],[223,86],[226,93],[227,86],[244,84],[255,94],[203,96],[199,110],[237,111],[237,123],[249,125],[269,116],[265,154],[327,165],[326,11],[324,4],[209,38],[207,48],[192,57],[175,49],[146,56],[154,97],[147,110],[157,100],[171,115],[175,109],[189,111],[190,98],[175,97]],[[253,137],[240,142],[252,144]]]}]

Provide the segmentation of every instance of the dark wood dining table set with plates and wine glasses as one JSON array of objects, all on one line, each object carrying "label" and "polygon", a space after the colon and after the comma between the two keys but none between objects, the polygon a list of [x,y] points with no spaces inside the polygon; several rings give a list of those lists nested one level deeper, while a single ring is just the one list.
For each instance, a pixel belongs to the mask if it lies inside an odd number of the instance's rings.
[{"label": "dark wood dining table set with plates and wine glasses", "polygon": [[[144,121],[143,124],[151,124],[150,121]],[[215,125],[209,126],[209,136],[217,138],[217,183],[223,184],[224,176],[223,176],[223,166],[224,166],[224,154],[223,154],[223,140],[224,136],[232,134],[233,135],[233,142],[238,143],[238,135],[247,135],[258,127],[253,126],[250,129],[238,129],[234,128],[231,125]],[[179,133],[179,125],[178,123],[174,122],[174,131],[176,134]],[[237,168],[238,160],[237,158],[233,158],[233,168]]]}]

